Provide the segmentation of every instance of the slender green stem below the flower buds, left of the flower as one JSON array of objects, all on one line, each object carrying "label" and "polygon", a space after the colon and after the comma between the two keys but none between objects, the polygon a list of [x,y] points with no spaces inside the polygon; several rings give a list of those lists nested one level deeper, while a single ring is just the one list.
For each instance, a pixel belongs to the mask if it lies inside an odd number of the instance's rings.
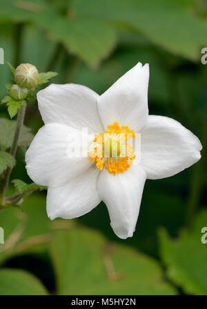
[{"label": "slender green stem below the flower buds, left of the flower", "polygon": [[[19,142],[19,136],[21,133],[21,128],[23,126],[23,120],[25,117],[25,112],[26,112],[26,106],[21,106],[19,112],[18,112],[18,116],[17,116],[17,126],[16,126],[16,130],[14,133],[14,139],[12,141],[12,146],[10,148],[10,154],[15,158],[16,157],[16,153],[17,153],[17,146],[18,146],[18,142]],[[3,179],[3,203],[5,200],[5,196],[6,196],[6,190],[8,188],[8,184],[10,181],[10,175],[12,172],[12,168],[8,168],[6,170],[6,175],[5,178]]]}]

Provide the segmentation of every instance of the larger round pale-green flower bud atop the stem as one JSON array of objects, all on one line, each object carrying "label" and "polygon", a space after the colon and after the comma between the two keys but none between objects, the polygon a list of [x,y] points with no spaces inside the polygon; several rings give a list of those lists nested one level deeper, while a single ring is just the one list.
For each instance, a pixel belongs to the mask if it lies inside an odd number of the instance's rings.
[{"label": "larger round pale-green flower bud atop the stem", "polygon": [[17,66],[14,74],[14,81],[23,88],[31,89],[37,86],[39,73],[35,66],[30,63],[21,63]]}]

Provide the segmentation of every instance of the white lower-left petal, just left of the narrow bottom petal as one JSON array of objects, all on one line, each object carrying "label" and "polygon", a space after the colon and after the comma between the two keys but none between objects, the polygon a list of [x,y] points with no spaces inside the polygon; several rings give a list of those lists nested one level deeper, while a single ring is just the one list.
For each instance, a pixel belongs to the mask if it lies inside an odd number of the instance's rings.
[{"label": "white lower-left petal, just left of the narrow bottom petal", "polygon": [[66,185],[48,188],[48,217],[52,220],[57,217],[72,219],[95,208],[101,201],[97,192],[99,172],[100,170],[92,166]]}]

